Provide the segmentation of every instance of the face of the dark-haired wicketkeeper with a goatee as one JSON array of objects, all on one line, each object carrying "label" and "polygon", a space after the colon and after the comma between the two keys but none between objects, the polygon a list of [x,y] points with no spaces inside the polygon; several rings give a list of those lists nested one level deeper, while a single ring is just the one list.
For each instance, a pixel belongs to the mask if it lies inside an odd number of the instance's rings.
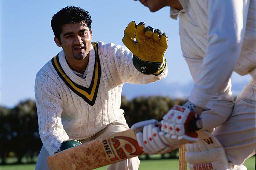
[{"label": "face of the dark-haired wicketkeeper with a goatee", "polygon": [[92,43],[92,30],[83,23],[64,24],[60,34],[60,41],[55,37],[54,41],[62,47],[66,58],[82,60],[89,56]]}]

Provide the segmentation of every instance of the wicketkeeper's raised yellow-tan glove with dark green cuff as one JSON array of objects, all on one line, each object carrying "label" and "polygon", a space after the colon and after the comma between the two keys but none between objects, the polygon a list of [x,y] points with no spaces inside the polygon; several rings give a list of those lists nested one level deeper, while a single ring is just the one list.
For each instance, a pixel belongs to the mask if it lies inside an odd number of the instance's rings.
[{"label": "wicketkeeper's raised yellow-tan glove with dark green cuff", "polygon": [[[145,27],[132,21],[124,30],[124,45],[133,53],[134,67],[143,74],[155,74],[164,63],[164,52],[167,45],[167,34],[151,26]],[[136,42],[134,42],[134,38]]]}]

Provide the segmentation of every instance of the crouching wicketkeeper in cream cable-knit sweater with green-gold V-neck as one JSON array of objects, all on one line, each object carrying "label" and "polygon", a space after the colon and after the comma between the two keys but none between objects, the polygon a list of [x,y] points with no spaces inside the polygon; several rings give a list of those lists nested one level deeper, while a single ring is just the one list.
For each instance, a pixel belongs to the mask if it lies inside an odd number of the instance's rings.
[{"label": "crouching wicketkeeper in cream cable-knit sweater with green-gold V-neck", "polygon": [[[43,142],[36,169],[49,169],[47,157],[58,151],[64,140],[85,143],[129,129],[124,110],[120,109],[123,84],[155,82],[167,75],[163,56],[157,70],[146,75],[134,67],[134,53],[128,48],[92,42],[91,22],[88,11],[73,6],[61,9],[52,17],[54,41],[63,50],[36,74],[36,106]],[[137,25],[132,24],[130,28],[136,30]],[[146,29],[143,23],[137,27]],[[160,34],[160,38],[166,40],[163,55],[167,37]],[[155,39],[152,42],[158,43]],[[134,157],[112,164],[108,169],[138,169],[139,164],[138,157]]]}]

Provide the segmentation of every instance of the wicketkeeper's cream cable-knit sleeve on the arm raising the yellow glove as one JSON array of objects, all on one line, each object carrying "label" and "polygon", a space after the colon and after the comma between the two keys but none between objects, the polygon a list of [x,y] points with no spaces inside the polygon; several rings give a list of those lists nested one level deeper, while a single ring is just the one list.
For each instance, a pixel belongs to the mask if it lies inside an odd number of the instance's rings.
[{"label": "wicketkeeper's cream cable-knit sleeve on the arm raising the yellow glove", "polygon": [[[108,52],[105,56],[109,69],[116,73],[121,83],[132,83],[132,84],[146,84],[161,80],[167,76],[167,62],[164,58],[163,64],[160,70],[156,74],[146,75],[140,73],[132,63],[132,52],[120,45],[112,43],[106,44],[108,46]],[[106,49],[106,47],[105,47]]]}]

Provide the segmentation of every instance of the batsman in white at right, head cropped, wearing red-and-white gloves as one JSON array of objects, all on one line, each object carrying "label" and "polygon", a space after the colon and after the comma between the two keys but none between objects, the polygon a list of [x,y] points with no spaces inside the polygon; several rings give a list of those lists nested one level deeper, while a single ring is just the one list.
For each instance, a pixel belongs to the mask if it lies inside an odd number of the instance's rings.
[{"label": "batsman in white at right, head cropped, wearing red-and-white gloves", "polygon": [[[213,154],[213,150],[206,152],[207,149],[200,147],[202,141],[186,145],[186,159],[191,160],[189,155],[194,155],[197,159],[189,162],[189,168],[197,169],[199,165],[208,166],[209,162],[213,162],[214,166],[209,169],[246,169],[242,164],[255,154],[256,1],[140,2],[151,12],[170,6],[171,18],[177,19],[179,16],[181,49],[195,83],[188,102],[183,107],[172,108],[163,117],[162,132],[159,132],[162,141],[156,141],[158,147],[152,142],[151,146],[143,144],[143,141],[150,144],[146,137],[152,136],[152,131],[147,130],[148,128],[144,128],[143,136],[137,133],[144,151],[159,153],[163,149],[162,145],[160,147],[160,144],[163,144],[161,142],[166,144],[165,147],[180,147],[182,144],[197,141],[195,131],[217,127],[212,135],[223,145],[226,155],[214,158],[214,155],[209,154]],[[237,96],[234,107],[230,81],[233,71],[240,75],[252,76],[250,83]],[[208,140],[209,145],[211,142]],[[201,156],[198,153],[201,153]],[[223,162],[220,167],[218,162],[224,161],[224,157],[228,161]]]}]

